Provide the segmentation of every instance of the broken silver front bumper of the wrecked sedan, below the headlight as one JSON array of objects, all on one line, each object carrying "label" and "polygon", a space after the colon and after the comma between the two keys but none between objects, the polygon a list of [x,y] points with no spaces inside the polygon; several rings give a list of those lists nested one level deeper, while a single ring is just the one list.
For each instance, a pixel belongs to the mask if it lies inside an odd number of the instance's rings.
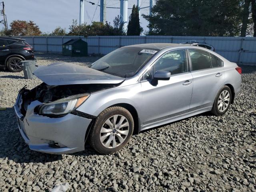
[{"label": "broken silver front bumper of the wrecked sedan, below the headlight", "polygon": [[92,119],[74,114],[60,118],[50,118],[34,113],[40,104],[33,101],[28,105],[26,115],[20,112],[22,94],[18,94],[14,105],[18,129],[29,148],[50,154],[68,154],[84,150],[86,130]]}]

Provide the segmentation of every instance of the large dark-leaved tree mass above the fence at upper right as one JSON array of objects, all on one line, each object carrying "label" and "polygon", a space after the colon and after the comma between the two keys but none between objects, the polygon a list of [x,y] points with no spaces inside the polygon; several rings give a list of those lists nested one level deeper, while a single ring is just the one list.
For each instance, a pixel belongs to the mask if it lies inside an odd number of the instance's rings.
[{"label": "large dark-leaved tree mass above the fence at upper right", "polygon": [[241,0],[157,0],[148,35],[240,36]]}]

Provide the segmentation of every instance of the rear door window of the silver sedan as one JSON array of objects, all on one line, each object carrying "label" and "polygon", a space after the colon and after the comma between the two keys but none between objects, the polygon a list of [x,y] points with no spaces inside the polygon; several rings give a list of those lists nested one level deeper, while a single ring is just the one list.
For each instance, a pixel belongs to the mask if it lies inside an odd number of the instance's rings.
[{"label": "rear door window of the silver sedan", "polygon": [[211,68],[211,60],[207,52],[201,50],[189,50],[189,54],[193,71]]}]

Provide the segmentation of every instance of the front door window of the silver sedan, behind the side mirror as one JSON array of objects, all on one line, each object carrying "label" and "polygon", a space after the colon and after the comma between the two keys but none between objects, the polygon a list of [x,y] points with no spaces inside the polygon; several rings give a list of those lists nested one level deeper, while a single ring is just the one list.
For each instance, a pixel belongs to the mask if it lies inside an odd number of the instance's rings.
[{"label": "front door window of the silver sedan, behind the side mirror", "polygon": [[171,75],[187,72],[186,51],[175,50],[166,53],[154,64],[154,72],[164,70]]}]

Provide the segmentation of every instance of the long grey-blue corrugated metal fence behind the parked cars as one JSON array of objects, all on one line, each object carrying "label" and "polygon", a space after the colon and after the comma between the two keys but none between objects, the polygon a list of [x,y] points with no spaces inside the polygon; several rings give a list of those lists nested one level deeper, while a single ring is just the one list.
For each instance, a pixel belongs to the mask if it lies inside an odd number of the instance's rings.
[{"label": "long grey-blue corrugated metal fence behind the parked cars", "polygon": [[22,36],[35,52],[62,52],[62,44],[72,38],[88,42],[88,54],[108,54],[122,46],[142,43],[183,43],[195,40],[214,46],[216,52],[240,64],[256,64],[255,37],[198,37],[198,36]]}]

